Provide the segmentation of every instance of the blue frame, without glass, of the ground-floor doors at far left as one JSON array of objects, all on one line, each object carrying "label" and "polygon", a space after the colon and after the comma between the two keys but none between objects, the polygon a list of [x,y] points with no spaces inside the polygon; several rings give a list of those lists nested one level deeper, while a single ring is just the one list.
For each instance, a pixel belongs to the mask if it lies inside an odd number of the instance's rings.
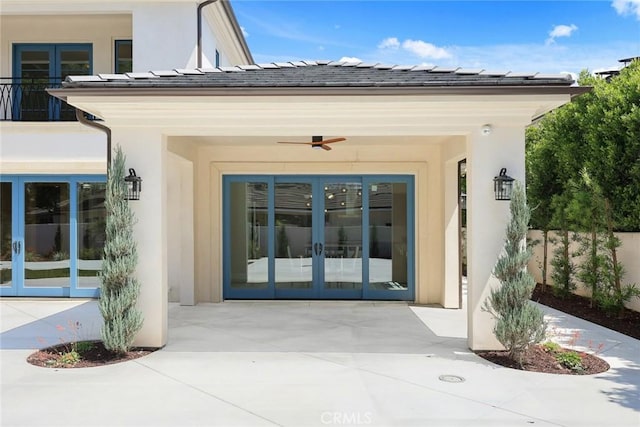
[{"label": "blue frame, without glass, of the ground-floor doors at far left", "polygon": [[[106,182],[105,175],[3,175],[2,182],[12,183],[12,234],[13,240],[20,242],[21,253],[13,258],[12,286],[0,287],[0,296],[39,296],[39,297],[89,297],[99,296],[99,288],[78,288],[78,184],[85,182]],[[69,286],[38,287],[25,286],[25,184],[61,182],[69,185]],[[14,255],[15,256],[15,255]]]}]

